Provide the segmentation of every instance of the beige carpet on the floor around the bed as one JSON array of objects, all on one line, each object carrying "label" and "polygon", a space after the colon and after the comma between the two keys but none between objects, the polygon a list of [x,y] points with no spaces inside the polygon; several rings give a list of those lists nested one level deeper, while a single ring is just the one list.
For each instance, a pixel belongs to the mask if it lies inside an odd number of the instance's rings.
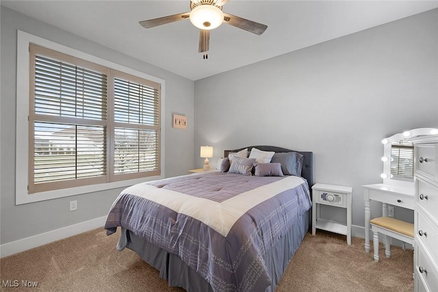
[{"label": "beige carpet on the floor around the bed", "polygon": [[[382,246],[381,261],[374,263],[372,252],[363,251],[363,239],[352,238],[348,246],[345,238],[308,233],[276,292],[413,291],[412,250],[393,247],[385,258]],[[0,291],[183,291],[168,287],[135,252],[117,252],[117,239],[96,229],[1,258]],[[4,287],[8,280],[18,287]],[[22,280],[38,287],[23,287]]]}]

